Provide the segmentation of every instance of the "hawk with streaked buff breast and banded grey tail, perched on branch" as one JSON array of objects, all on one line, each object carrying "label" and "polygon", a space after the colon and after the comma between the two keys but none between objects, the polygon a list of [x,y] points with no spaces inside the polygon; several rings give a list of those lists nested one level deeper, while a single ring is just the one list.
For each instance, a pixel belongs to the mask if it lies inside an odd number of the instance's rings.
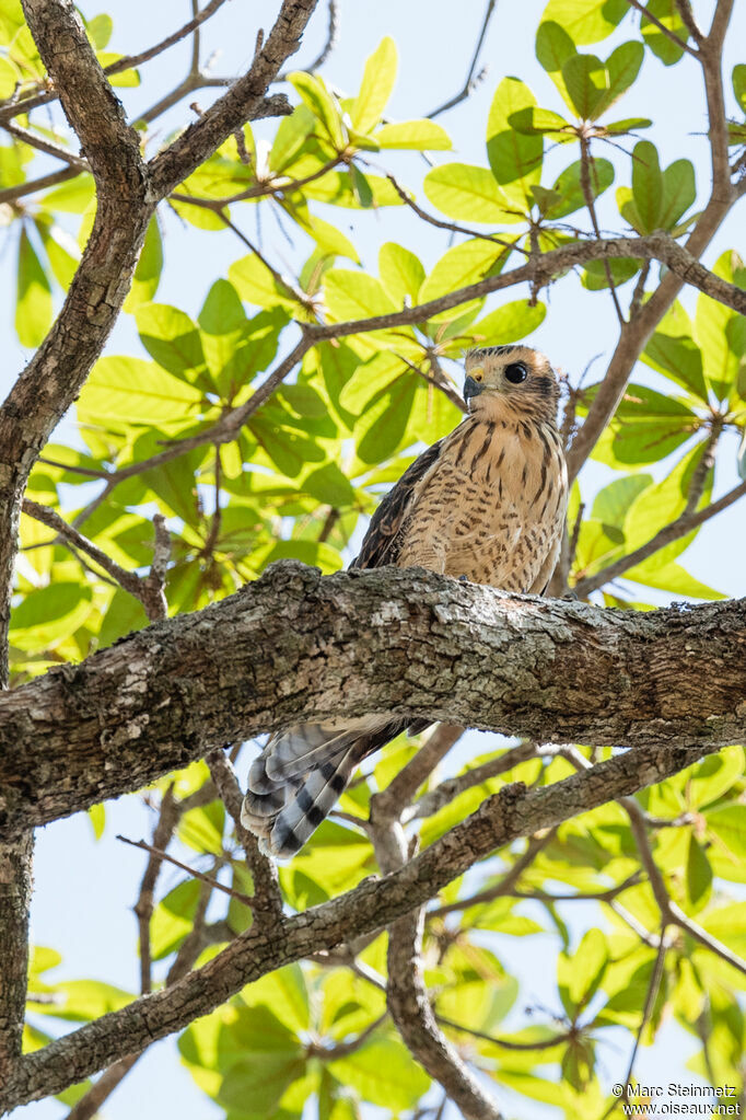
[{"label": "hawk with streaked buff breast and banded grey tail, perched on branch", "polygon": [[[540,595],[559,556],[567,507],[557,376],[529,346],[471,351],[465,372],[468,416],[386,495],[351,567],[418,564]],[[379,713],[276,732],[249,769],[244,825],[266,852],[290,858],[363,758],[428,722]]]}]

